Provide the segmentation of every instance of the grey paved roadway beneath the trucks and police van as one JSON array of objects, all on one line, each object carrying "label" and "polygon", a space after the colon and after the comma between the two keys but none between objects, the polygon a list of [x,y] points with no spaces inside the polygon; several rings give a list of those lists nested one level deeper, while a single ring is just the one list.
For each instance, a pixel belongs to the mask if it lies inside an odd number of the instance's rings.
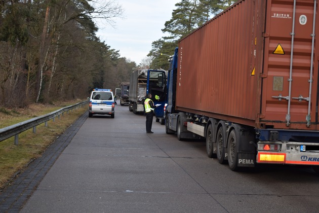
[{"label": "grey paved roadway beneath the trucks and police van", "polygon": [[299,166],[233,172],[204,141],[178,141],[116,105],[83,118],[21,212],[318,212],[319,175]]}]

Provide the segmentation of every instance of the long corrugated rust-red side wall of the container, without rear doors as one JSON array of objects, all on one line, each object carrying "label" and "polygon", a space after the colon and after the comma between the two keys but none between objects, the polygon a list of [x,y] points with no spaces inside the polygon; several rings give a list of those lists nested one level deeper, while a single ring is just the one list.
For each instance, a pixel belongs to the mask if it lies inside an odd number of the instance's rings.
[{"label": "long corrugated rust-red side wall of the container, without rear doors", "polygon": [[178,110],[255,125],[255,15],[241,1],[179,42]]}]

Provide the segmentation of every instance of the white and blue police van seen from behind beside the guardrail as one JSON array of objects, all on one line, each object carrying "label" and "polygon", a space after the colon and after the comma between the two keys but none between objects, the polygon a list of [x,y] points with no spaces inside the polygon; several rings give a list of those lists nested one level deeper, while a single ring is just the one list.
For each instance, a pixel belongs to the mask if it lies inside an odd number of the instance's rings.
[{"label": "white and blue police van seen from behind beside the guardrail", "polygon": [[89,117],[93,115],[110,115],[114,118],[115,100],[110,89],[93,89],[89,105]]}]

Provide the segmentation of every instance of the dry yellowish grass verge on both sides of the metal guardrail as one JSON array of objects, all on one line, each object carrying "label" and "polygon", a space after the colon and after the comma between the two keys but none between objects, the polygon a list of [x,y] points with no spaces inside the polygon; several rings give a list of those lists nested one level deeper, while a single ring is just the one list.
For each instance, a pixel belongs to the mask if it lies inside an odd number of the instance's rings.
[{"label": "dry yellowish grass verge on both sides of the metal guardrail", "polygon": [[[25,109],[0,109],[0,128],[26,121],[28,119],[45,115],[72,105],[82,100],[57,103],[54,105],[32,104]],[[14,144],[14,137],[0,141],[0,189],[10,184],[15,174],[23,170],[28,163],[42,155],[45,149],[54,142],[78,117],[88,110],[88,105],[72,112],[64,113],[60,119],[56,118],[36,127],[36,133],[32,129],[19,134],[19,145]]]}]

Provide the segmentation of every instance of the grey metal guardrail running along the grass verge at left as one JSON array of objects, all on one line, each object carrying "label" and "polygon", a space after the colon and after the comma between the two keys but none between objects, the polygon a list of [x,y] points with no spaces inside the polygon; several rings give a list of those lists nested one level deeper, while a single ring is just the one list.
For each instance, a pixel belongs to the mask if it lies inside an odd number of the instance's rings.
[{"label": "grey metal guardrail running along the grass verge at left", "polygon": [[5,139],[8,139],[9,137],[15,136],[14,144],[18,145],[18,135],[21,132],[24,132],[30,128],[33,127],[33,133],[35,133],[36,126],[42,123],[45,123],[45,126],[48,126],[48,121],[51,119],[55,119],[55,117],[60,118],[60,115],[63,115],[63,113],[72,111],[73,109],[77,109],[78,107],[83,107],[83,105],[87,104],[89,100],[76,103],[74,105],[70,105],[68,107],[62,108],[60,110],[54,111],[52,113],[39,116],[36,118],[32,118],[27,121],[23,121],[5,128],[0,129],[0,141],[3,141]]}]

